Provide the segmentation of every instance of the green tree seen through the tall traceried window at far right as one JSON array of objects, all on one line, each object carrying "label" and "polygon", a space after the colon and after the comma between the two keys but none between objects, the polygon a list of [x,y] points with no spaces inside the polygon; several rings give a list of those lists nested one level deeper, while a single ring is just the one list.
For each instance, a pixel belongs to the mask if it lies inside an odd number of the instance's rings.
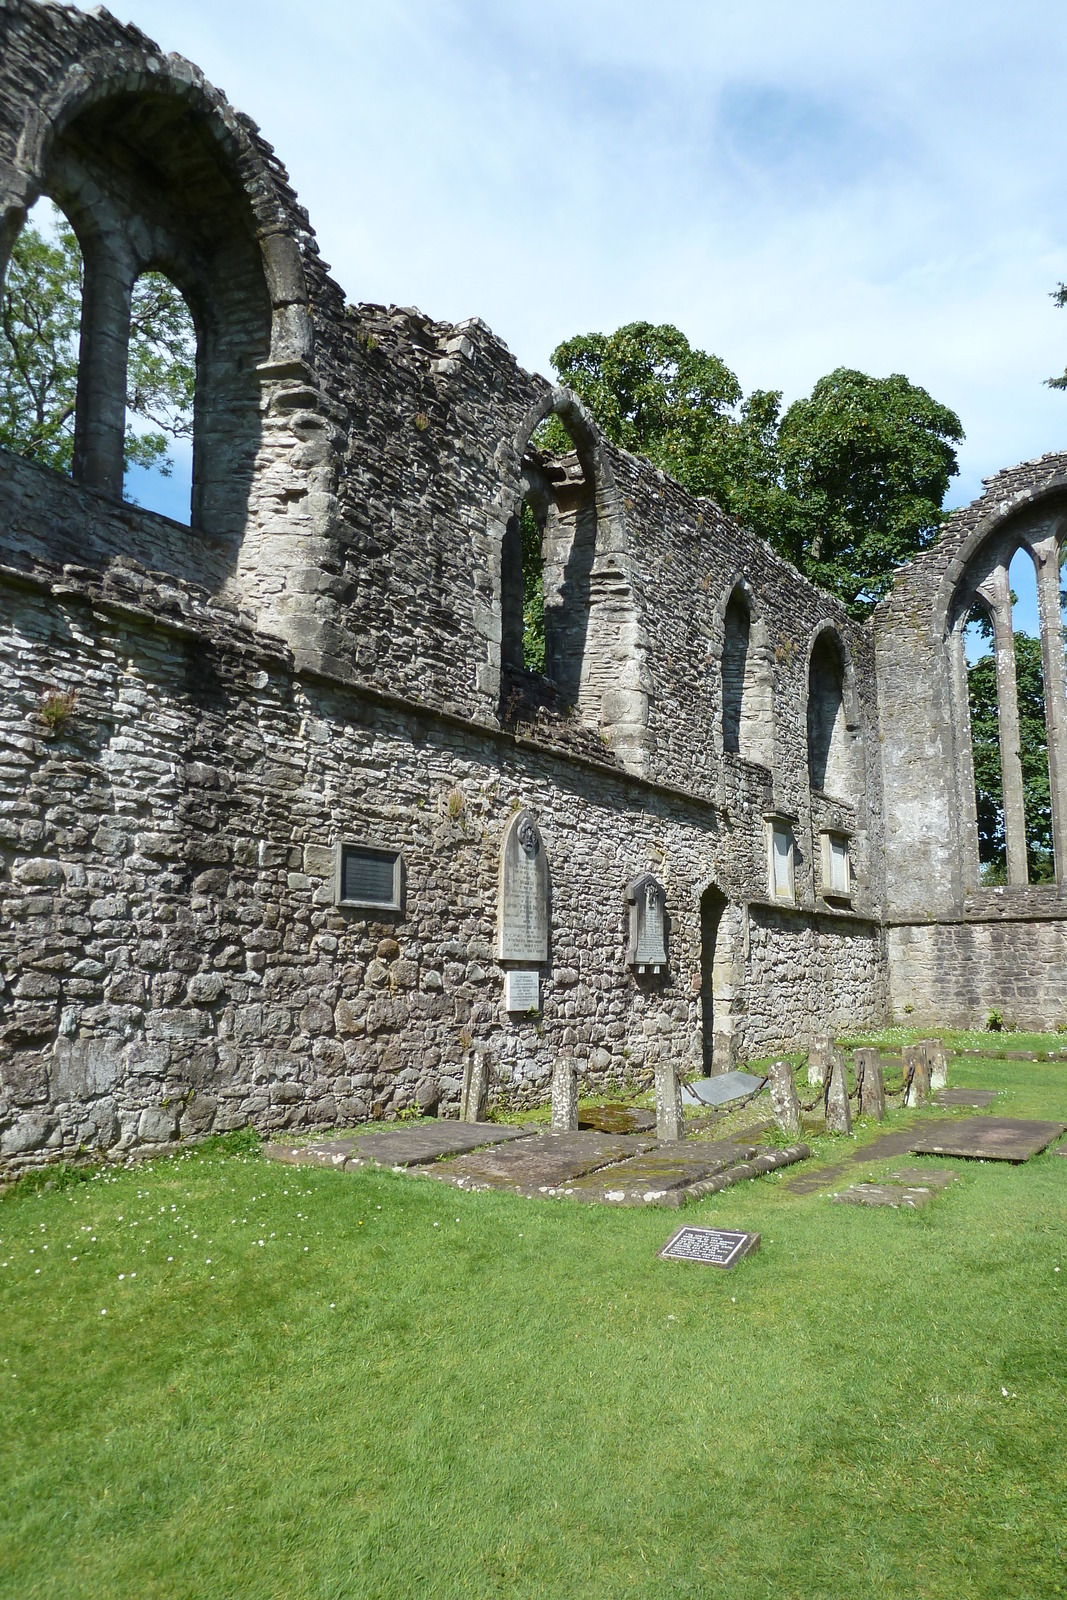
[{"label": "green tree seen through the tall traceried window at far right", "polygon": [[[976,613],[989,638],[982,611]],[[1029,634],[1014,635],[1016,698],[1019,701],[1019,757],[1022,765],[1022,805],[1027,832],[1027,870],[1032,883],[1054,877],[1053,800],[1048,781],[1048,734],[1045,726],[1045,677],[1041,642]],[[977,813],[977,856],[982,883],[1006,883],[1003,770],[997,718],[997,662],[990,654],[968,669],[971,702],[971,754],[974,758],[974,805]]]}]

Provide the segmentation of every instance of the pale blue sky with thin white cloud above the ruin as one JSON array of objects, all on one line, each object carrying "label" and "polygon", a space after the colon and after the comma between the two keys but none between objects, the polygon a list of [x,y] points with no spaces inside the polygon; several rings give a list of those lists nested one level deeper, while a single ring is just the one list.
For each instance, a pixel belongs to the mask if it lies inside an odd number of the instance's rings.
[{"label": "pale blue sky with thin white cloud above the ruin", "polygon": [[1067,6],[112,0],[290,168],[354,301],[565,338],[675,323],[745,390],[905,373],[965,504],[1067,448]]}]

